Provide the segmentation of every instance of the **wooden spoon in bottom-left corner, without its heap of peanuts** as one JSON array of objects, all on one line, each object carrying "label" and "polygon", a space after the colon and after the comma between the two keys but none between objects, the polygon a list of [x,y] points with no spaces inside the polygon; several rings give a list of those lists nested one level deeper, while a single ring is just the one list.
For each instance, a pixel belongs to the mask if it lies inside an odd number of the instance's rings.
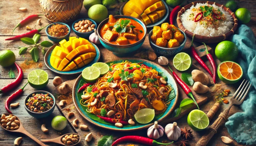
[{"label": "wooden spoon in bottom-left corner, without its heap of peanuts", "polygon": [[[4,114],[5,114],[5,116],[9,116],[9,115],[15,116],[15,115],[9,114],[9,113],[4,113]],[[17,130],[7,130],[6,128],[4,128],[4,127],[2,126],[2,124],[0,124],[0,126],[1,126],[4,130],[9,131],[9,132],[15,132],[15,133],[23,133],[23,134],[25,134],[25,135],[27,135],[29,138],[31,138],[32,140],[34,140],[34,141],[35,141],[37,144],[39,144],[40,146],[47,146],[47,145],[45,145],[44,143],[42,143],[40,140],[38,140],[37,138],[35,138],[34,136],[32,136],[31,134],[29,134],[28,131],[26,131],[26,130],[24,129],[24,127],[22,126],[20,119],[19,119],[17,116],[15,116],[15,117],[16,117],[16,120],[18,120],[18,121],[20,122],[19,129],[17,129]]]}]

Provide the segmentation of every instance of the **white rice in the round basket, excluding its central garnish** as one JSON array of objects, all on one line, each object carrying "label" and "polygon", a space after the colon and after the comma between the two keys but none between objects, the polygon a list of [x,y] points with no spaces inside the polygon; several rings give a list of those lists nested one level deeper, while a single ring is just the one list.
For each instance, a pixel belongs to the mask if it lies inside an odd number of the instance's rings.
[{"label": "white rice in the round basket, excluding its central garnish", "polygon": [[194,16],[196,16],[197,12],[191,11],[193,8],[199,8],[200,6],[206,6],[207,3],[197,3],[195,6],[191,6],[189,9],[186,10],[185,13],[181,15],[181,22],[182,25],[190,32],[195,33],[197,35],[202,35],[206,37],[214,37],[214,36],[221,36],[223,34],[226,34],[233,28],[233,18],[232,16],[224,11],[223,8],[216,6],[215,4],[209,5],[213,6],[214,8],[218,9],[224,14],[224,17],[226,19],[224,21],[220,21],[220,25],[218,28],[214,28],[213,24],[210,26],[205,26],[205,24],[200,24],[200,21],[194,22],[189,16],[191,13],[194,13]]}]

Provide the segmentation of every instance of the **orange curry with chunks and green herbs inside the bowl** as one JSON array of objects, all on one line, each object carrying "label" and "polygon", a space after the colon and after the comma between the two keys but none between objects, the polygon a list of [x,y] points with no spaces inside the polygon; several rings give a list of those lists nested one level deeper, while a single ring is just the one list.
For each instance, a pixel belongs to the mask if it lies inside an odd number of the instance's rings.
[{"label": "orange curry with chunks and green herbs inside the bowl", "polygon": [[100,36],[114,45],[129,45],[141,40],[143,27],[135,20],[128,18],[115,19],[109,15],[109,21],[100,29]]}]

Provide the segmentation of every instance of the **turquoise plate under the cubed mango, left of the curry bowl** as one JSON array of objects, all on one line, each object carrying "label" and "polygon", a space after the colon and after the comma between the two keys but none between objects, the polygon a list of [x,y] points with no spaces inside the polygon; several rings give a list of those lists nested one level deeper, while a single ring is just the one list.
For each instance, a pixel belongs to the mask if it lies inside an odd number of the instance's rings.
[{"label": "turquoise plate under the cubed mango, left of the curry bowl", "polygon": [[77,73],[82,73],[82,71],[87,68],[90,67],[92,64],[96,63],[99,61],[100,59],[100,50],[99,48],[93,44],[92,42],[90,42],[92,44],[92,46],[95,48],[96,50],[96,57],[94,58],[94,60],[92,62],[90,62],[89,64],[85,65],[82,68],[73,70],[73,71],[68,71],[68,72],[62,72],[62,71],[57,71],[56,69],[54,69],[51,64],[50,64],[50,57],[52,54],[53,49],[55,48],[55,46],[57,46],[59,43],[55,44],[54,46],[52,46],[50,49],[48,49],[48,51],[46,52],[45,56],[44,56],[44,63],[47,66],[47,68],[49,68],[50,70],[52,70],[55,73],[59,73],[59,74],[77,74]]}]

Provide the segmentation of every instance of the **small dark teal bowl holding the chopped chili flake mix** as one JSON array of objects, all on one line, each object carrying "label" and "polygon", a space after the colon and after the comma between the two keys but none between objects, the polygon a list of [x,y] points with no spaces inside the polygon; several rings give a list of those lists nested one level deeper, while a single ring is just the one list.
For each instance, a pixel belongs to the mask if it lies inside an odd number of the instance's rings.
[{"label": "small dark teal bowl holding the chopped chili flake mix", "polygon": [[[29,97],[32,97],[32,94],[49,94],[48,96],[49,97],[52,97],[52,99],[53,99],[53,106],[52,106],[52,108],[50,108],[49,110],[47,110],[47,111],[45,111],[45,112],[40,112],[40,113],[37,113],[37,112],[33,112],[33,111],[30,111],[29,109],[28,109],[28,107],[26,106],[26,103],[28,102],[28,99],[29,99]],[[53,110],[54,110],[54,108],[55,108],[55,105],[56,105],[56,99],[55,99],[55,97],[50,93],[50,92],[47,92],[47,91],[35,91],[35,92],[32,92],[32,93],[30,93],[26,98],[25,98],[25,100],[24,100],[24,106],[25,106],[25,109],[26,109],[26,111],[31,115],[31,116],[33,116],[33,117],[35,117],[35,118],[37,118],[37,119],[39,119],[39,118],[45,118],[45,117],[48,117],[52,112],[53,112]]]}]

